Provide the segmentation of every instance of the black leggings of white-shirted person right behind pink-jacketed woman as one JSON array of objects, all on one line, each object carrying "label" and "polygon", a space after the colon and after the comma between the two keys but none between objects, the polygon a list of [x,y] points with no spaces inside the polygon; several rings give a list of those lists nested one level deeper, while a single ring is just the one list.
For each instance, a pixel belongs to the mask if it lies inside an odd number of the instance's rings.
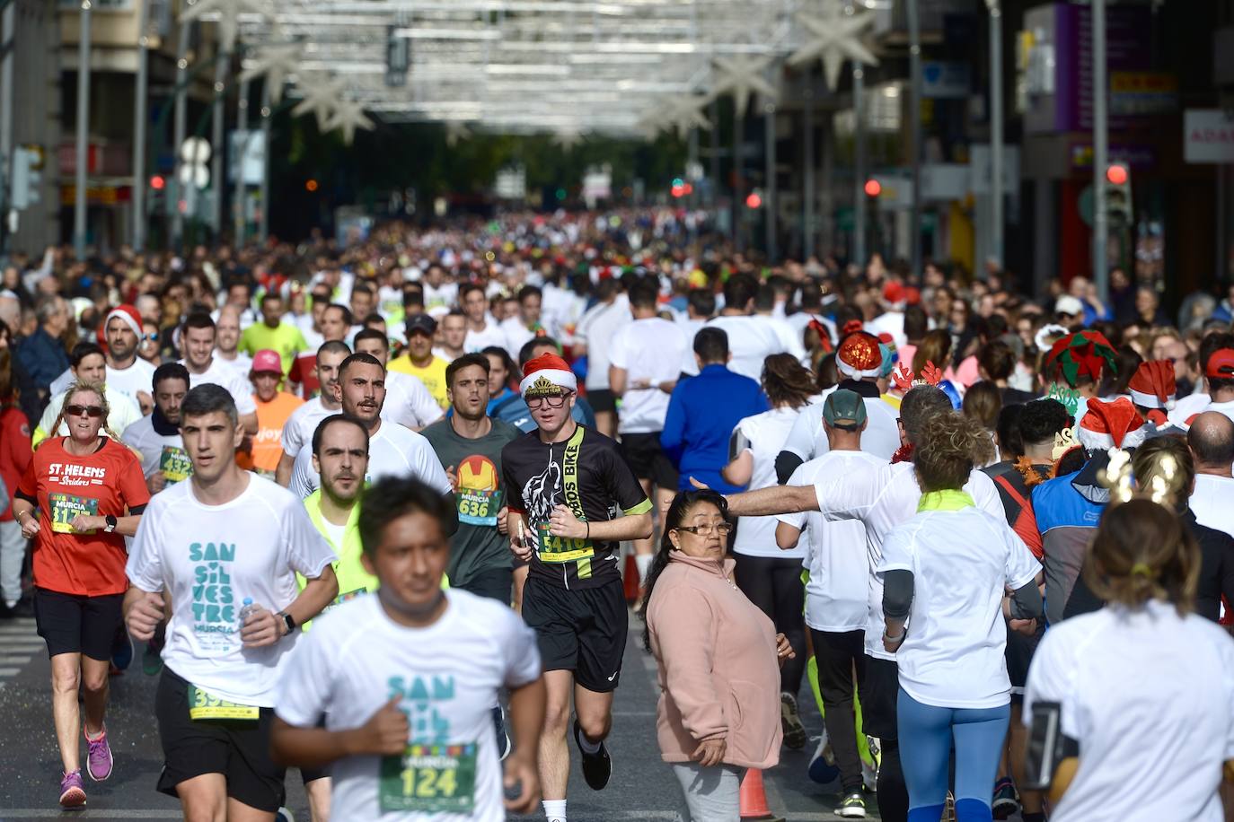
[{"label": "black leggings of white-shirted person right behind pink-jacketed woman", "polygon": [[737,587],[771,617],[776,632],[789,637],[797,654],[780,669],[780,690],[796,696],[806,673],[806,585],[801,582],[801,560],[734,556]]}]

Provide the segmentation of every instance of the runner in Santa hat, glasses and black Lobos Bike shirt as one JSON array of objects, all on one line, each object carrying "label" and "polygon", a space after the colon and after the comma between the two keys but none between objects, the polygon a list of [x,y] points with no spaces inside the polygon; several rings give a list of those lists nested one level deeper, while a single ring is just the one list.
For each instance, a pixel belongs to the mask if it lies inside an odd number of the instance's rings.
[{"label": "runner in Santa hat, glasses and black Lobos Bike shirt", "polygon": [[[523,396],[537,430],[501,454],[512,492],[511,547],[531,560],[522,615],[536,630],[548,688],[540,783],[548,822],[565,822],[570,775],[566,732],[594,790],[608,784],[605,738],[626,649],[628,611],[617,556],[622,540],[652,532],[652,503],[608,437],[571,418],[578,380],[565,360],[544,354],[523,368]],[[617,510],[624,516],[616,518]]]}]

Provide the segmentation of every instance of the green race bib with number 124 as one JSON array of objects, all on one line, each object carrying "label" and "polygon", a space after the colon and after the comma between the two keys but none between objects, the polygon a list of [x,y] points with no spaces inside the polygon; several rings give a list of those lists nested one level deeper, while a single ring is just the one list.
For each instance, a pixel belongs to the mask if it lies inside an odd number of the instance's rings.
[{"label": "green race bib with number 124", "polygon": [[478,746],[411,744],[383,757],[378,800],[383,813],[470,813],[475,807]]}]

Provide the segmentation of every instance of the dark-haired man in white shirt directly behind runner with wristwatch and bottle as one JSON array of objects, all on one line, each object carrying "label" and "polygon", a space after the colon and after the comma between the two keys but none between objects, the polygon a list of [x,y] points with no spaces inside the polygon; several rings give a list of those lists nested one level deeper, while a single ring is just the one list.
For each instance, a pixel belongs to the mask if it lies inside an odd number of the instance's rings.
[{"label": "dark-haired man in white shirt directly behind runner with wristwatch and bottle", "polygon": [[120,439],[142,455],[146,487],[157,494],[193,473],[180,436],[180,404],[189,393],[189,370],[179,362],[164,362],[154,370],[152,387],[154,410],[126,428]]}]

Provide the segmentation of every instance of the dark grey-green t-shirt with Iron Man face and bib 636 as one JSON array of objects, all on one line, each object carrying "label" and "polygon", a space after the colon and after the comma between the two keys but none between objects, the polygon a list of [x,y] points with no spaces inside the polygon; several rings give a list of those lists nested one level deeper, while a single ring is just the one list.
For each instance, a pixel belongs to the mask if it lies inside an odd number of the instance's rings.
[{"label": "dark grey-green t-shirt with Iron Man face and bib 636", "polygon": [[449,418],[421,431],[442,461],[454,467],[459,488],[454,504],[459,530],[450,539],[449,578],[452,585],[466,588],[478,573],[491,568],[510,568],[510,539],[497,532],[497,511],[506,504],[501,487],[501,449],[522,436],[510,423],[492,420],[492,430],[478,440],[468,440],[454,430]]}]

